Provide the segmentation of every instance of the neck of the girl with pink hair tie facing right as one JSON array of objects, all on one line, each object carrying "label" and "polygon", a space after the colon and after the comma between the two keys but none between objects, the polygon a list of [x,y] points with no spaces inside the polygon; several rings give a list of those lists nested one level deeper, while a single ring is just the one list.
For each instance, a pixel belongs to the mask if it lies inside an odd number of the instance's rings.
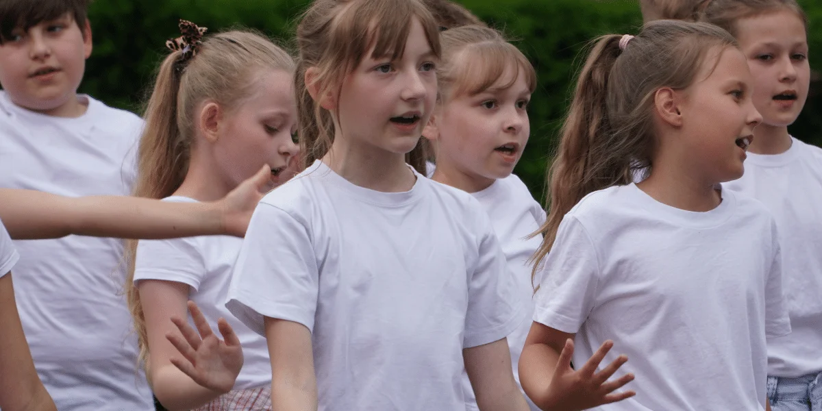
[{"label": "neck of the girl with pink hair tie facing right", "polygon": [[[666,164],[668,162],[657,162]],[[721,196],[714,184],[682,173],[685,168],[654,166],[649,178],[637,184],[640,190],[654,200],[665,205],[687,211],[710,211],[715,209]]]}]

